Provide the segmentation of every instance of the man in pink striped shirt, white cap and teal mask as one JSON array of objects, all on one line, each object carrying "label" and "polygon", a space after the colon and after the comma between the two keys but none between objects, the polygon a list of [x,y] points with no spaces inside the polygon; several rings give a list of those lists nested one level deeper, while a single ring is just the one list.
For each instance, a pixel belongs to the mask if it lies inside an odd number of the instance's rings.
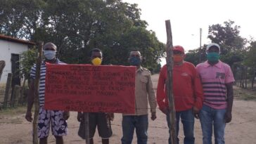
[{"label": "man in pink striped shirt, white cap and teal mask", "polygon": [[207,61],[196,66],[203,84],[205,99],[200,110],[203,144],[212,144],[212,126],[215,144],[224,144],[226,123],[231,122],[233,105],[233,73],[226,63],[219,60],[218,44],[206,47]]}]

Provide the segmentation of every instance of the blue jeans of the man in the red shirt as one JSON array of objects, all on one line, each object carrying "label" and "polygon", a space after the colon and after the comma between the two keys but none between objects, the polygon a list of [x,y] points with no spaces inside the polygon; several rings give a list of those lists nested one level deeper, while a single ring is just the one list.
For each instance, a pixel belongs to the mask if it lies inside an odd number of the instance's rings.
[{"label": "blue jeans of the man in the red shirt", "polygon": [[[194,138],[194,115],[193,111],[191,110],[184,110],[180,112],[176,112],[176,132],[177,132],[177,143],[179,143],[179,119],[181,118],[181,122],[183,124],[183,131],[184,131],[184,144],[194,144],[195,138]],[[170,122],[169,122],[169,114],[167,114],[167,124],[169,127],[169,133],[170,133]],[[171,138],[169,137],[169,144],[171,144]]]}]

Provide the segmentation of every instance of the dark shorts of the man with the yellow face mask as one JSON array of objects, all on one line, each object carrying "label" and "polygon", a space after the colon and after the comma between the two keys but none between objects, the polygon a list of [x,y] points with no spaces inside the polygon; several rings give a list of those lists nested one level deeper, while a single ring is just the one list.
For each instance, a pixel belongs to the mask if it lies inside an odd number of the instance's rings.
[{"label": "dark shorts of the man with the yellow face mask", "polygon": [[[110,119],[107,119],[103,112],[89,113],[89,138],[94,138],[96,127],[98,129],[98,135],[101,136],[102,139],[108,139],[113,134]],[[85,139],[86,133],[84,122],[80,122],[78,136]]]}]

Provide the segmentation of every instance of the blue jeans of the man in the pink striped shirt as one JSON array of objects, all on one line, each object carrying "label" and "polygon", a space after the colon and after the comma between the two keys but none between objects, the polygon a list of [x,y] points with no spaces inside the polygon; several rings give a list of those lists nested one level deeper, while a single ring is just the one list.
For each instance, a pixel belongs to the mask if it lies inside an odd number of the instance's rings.
[{"label": "blue jeans of the man in the pink striped shirt", "polygon": [[225,113],[226,109],[217,110],[207,105],[203,105],[199,114],[203,131],[203,144],[212,144],[212,125],[215,132],[215,144],[225,143]]}]

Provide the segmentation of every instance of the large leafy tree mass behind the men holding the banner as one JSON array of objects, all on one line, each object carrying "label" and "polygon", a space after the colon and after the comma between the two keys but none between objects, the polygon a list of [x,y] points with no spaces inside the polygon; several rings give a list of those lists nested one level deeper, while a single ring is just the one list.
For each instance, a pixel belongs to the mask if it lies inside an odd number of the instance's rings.
[{"label": "large leafy tree mass behind the men holding the banner", "polygon": [[147,22],[141,20],[136,4],[121,0],[4,0],[0,7],[2,33],[51,41],[58,47],[58,58],[66,63],[90,63],[89,51],[101,48],[104,63],[124,65],[129,48],[137,46],[143,48],[147,60],[143,64],[155,69],[164,53],[155,33],[146,30]]}]

